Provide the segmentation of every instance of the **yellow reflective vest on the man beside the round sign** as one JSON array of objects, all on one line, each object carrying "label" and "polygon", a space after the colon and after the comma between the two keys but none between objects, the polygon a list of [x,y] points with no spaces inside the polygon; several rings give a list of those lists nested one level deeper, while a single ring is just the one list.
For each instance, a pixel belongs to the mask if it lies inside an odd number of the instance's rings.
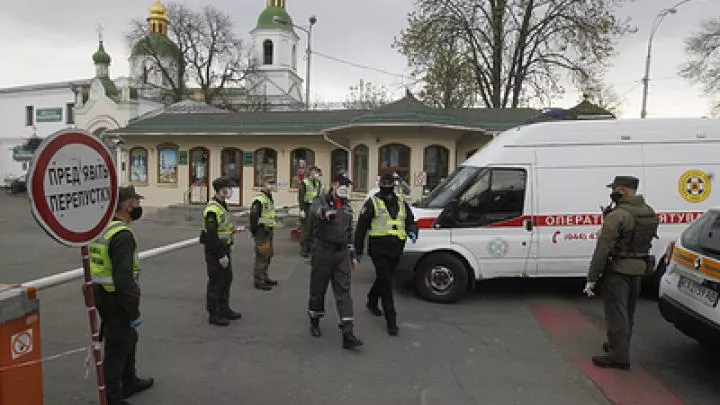
[{"label": "yellow reflective vest on the man beside the round sign", "polygon": [[[112,279],[112,260],[110,259],[109,253],[110,241],[118,232],[124,230],[128,230],[133,233],[132,229],[124,222],[114,220],[99,238],[95,239],[88,245],[88,251],[90,252],[89,261],[92,282],[94,284],[102,285],[107,292],[115,291],[115,283]],[[133,238],[134,237],[135,234],[133,233]],[[138,281],[140,278],[140,257],[138,256],[137,243],[135,243],[133,256],[133,278],[135,281]]]}]

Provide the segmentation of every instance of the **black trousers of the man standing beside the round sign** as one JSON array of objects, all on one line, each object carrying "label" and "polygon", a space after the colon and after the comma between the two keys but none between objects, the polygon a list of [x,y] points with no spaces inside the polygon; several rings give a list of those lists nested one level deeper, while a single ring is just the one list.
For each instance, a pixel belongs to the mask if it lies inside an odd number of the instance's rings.
[{"label": "black trousers of the man standing beside the round sign", "polygon": [[135,353],[138,333],[130,326],[130,315],[114,298],[106,295],[97,307],[102,319],[102,336],[105,343],[103,374],[108,403],[122,399],[123,385],[132,386],[137,378]]}]

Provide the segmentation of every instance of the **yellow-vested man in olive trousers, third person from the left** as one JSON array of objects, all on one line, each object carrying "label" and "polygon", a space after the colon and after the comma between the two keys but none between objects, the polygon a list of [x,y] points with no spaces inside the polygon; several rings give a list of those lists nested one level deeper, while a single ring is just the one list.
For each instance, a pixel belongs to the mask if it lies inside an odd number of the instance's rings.
[{"label": "yellow-vested man in olive trousers, third person from the left", "polygon": [[250,209],[250,231],[255,240],[255,288],[269,291],[278,284],[268,277],[270,260],[273,257],[273,236],[277,225],[275,203],[272,193],[275,181],[265,180],[260,193],[253,198]]}]

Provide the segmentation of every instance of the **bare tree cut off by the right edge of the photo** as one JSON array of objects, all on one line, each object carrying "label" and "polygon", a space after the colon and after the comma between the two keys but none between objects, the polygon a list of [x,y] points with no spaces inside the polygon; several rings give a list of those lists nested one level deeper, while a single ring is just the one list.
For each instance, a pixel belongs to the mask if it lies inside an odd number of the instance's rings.
[{"label": "bare tree cut off by the right edge of the photo", "polygon": [[[700,24],[700,31],[685,39],[689,60],[681,66],[680,75],[699,83],[708,96],[720,94],[720,17]],[[713,103],[711,114],[720,113],[720,103]]]}]

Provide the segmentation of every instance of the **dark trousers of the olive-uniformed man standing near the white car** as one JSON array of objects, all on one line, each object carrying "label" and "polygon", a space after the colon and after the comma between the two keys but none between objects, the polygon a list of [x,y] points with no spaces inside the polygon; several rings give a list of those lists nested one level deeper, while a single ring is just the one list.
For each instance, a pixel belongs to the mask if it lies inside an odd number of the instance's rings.
[{"label": "dark trousers of the olive-uniformed man standing near the white car", "polygon": [[627,276],[612,271],[606,272],[603,280],[602,296],[607,343],[610,347],[608,356],[620,363],[630,362],[630,339],[640,283],[640,276]]}]

